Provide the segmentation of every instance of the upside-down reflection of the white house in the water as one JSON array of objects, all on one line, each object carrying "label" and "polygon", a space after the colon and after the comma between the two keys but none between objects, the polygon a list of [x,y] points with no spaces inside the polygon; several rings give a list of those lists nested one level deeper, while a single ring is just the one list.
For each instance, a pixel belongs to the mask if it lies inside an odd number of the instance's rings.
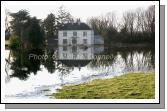
[{"label": "upside-down reflection of the white house in the water", "polygon": [[94,47],[88,46],[59,46],[58,60],[67,67],[81,67],[86,66],[94,59]]}]

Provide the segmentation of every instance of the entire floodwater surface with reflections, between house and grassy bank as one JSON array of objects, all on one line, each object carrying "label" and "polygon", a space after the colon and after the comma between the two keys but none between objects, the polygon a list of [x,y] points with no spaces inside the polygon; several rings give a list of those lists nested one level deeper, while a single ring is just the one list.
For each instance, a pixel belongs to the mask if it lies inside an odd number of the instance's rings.
[{"label": "entire floodwater surface with reflections, between house and grassy bank", "polygon": [[[153,71],[154,53],[154,48],[146,47],[75,45],[10,50],[6,56],[6,97],[46,97],[48,92],[65,84],[79,84],[127,72]],[[20,89],[11,92],[13,84],[19,85]]]}]

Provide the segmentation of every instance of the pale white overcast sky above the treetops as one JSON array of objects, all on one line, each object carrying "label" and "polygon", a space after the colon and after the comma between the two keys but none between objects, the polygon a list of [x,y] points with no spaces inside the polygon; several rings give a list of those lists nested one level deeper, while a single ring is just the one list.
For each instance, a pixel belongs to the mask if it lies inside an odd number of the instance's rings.
[{"label": "pale white overcast sky above the treetops", "polygon": [[[105,15],[108,12],[115,12],[118,19],[122,13],[128,10],[136,10],[137,8],[148,8],[150,5],[66,5],[61,4],[75,18],[81,18],[81,21],[86,22],[87,18],[92,16]],[[8,5],[5,8],[10,12],[18,12],[21,9],[29,11],[31,16],[36,16],[38,19],[44,19],[49,13],[56,14],[58,5]]]}]

